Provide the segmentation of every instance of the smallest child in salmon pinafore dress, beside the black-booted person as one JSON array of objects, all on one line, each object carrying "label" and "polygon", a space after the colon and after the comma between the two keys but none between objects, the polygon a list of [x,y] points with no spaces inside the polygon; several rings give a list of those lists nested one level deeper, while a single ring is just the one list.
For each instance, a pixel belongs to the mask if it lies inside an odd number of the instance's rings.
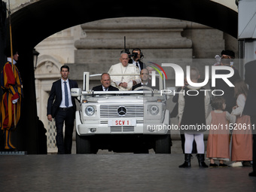
[{"label": "smallest child in salmon pinafore dress, beside the black-booted person", "polygon": [[[209,167],[227,167],[224,160],[230,158],[230,136],[229,123],[236,122],[236,116],[225,111],[226,103],[222,96],[215,97],[212,100],[212,108],[206,119],[206,124],[211,127],[207,141],[207,157],[210,160]],[[219,165],[215,163],[219,161]]]}]

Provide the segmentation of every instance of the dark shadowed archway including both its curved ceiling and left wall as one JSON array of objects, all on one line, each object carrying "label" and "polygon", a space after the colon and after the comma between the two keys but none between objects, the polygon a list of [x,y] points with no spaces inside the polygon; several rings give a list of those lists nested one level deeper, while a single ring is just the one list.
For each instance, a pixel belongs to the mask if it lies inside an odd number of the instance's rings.
[{"label": "dark shadowed archway including both its curved ceiling and left wall", "polygon": [[[186,6],[184,6],[186,5]],[[131,6],[133,8],[133,6]],[[166,17],[190,20],[212,26],[236,37],[237,13],[215,2],[179,0],[136,2],[136,11],[120,1],[41,0],[24,5],[12,15],[14,47],[20,50],[20,73],[24,84],[26,108],[21,125],[23,148],[28,154],[38,153],[38,130],[32,49],[44,38],[81,23],[115,17]],[[135,9],[136,9],[135,8]]]}]

